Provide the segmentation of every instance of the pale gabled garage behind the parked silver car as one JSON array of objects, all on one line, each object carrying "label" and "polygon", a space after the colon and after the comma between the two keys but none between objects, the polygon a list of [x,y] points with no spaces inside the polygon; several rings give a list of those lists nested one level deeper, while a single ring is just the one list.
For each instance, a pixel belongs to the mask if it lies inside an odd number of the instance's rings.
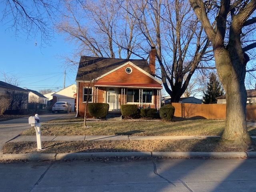
[{"label": "pale gabled garage behind the parked silver car", "polygon": [[71,111],[75,111],[76,104],[76,84],[72,84],[54,94],[52,94],[52,104],[59,101],[66,101],[71,104]]}]

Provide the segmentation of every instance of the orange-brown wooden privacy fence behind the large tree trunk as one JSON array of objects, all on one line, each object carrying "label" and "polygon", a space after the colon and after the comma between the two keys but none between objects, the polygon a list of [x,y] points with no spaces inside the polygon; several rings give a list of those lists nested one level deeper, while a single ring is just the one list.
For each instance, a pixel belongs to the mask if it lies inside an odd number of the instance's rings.
[{"label": "orange-brown wooden privacy fence behind the large tree trunk", "polygon": [[[172,103],[174,116],[194,119],[226,119],[226,104]],[[247,120],[256,120],[256,105],[246,106]]]}]

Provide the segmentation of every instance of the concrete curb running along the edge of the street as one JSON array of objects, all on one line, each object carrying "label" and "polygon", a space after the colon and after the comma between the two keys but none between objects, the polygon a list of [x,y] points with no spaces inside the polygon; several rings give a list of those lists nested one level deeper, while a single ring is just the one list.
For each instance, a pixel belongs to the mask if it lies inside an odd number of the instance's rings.
[{"label": "concrete curb running along the edge of the street", "polygon": [[84,152],[49,154],[2,154],[0,160],[71,160],[106,157],[255,158],[256,152]]}]

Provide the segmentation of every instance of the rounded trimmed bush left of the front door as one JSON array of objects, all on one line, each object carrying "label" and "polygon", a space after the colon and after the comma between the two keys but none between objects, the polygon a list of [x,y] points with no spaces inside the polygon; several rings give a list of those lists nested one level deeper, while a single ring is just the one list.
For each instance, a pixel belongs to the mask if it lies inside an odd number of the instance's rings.
[{"label": "rounded trimmed bush left of the front door", "polygon": [[107,103],[88,103],[88,112],[90,116],[96,118],[106,118],[108,114],[109,104]]}]

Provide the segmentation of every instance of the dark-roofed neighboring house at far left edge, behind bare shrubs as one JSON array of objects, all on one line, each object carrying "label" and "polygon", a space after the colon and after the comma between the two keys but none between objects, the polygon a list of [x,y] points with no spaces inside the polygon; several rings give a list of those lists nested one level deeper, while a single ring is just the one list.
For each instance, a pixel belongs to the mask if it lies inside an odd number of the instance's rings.
[{"label": "dark-roofed neighboring house at far left edge, behind bare shrubs", "polygon": [[[17,86],[14,86],[14,85],[11,85],[11,84],[0,81],[0,95],[6,94],[6,92],[11,92],[11,93],[16,94],[16,95],[19,94],[19,93],[24,94],[24,98],[22,98],[22,100],[20,100],[20,102],[22,102],[21,109],[27,109],[27,107],[28,107],[27,106],[27,104],[28,104],[28,90],[25,90],[23,88],[20,88],[20,87],[17,87]],[[21,99],[20,96],[17,96],[16,98]],[[13,109],[10,109],[10,110],[15,110],[15,106],[13,106]]]}]

